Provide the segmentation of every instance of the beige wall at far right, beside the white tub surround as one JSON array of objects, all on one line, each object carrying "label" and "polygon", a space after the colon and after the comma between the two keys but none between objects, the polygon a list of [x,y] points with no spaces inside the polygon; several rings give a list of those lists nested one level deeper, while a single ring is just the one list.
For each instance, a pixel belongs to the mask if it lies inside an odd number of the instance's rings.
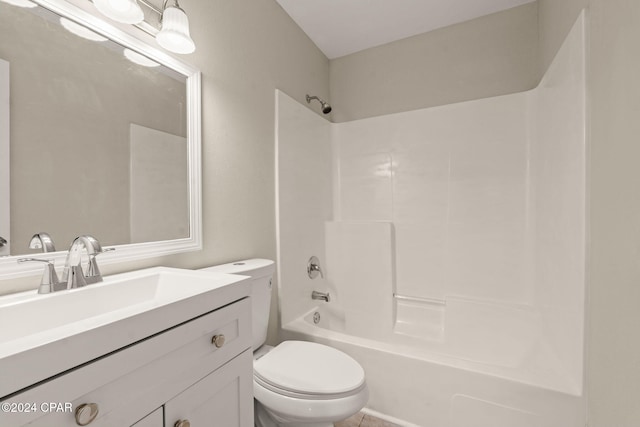
[{"label": "beige wall at far right, beside the white tub surround", "polygon": [[540,0],[541,59],[590,15],[589,426],[640,425],[640,2]]}]

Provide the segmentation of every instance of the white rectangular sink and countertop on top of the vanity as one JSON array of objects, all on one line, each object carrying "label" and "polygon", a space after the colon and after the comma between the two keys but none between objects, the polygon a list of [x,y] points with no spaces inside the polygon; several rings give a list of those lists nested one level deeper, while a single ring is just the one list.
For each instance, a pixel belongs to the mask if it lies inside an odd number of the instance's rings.
[{"label": "white rectangular sink and countertop on top of the vanity", "polygon": [[247,279],[154,267],[79,289],[0,297],[0,399],[244,298]]}]

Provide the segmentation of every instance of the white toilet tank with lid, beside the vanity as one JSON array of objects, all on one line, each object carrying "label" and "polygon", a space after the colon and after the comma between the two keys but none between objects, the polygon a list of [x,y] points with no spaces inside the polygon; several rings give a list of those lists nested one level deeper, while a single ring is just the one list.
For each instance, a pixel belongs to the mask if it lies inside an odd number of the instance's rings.
[{"label": "white toilet tank with lid, beside the vanity", "polygon": [[271,279],[275,272],[274,262],[256,258],[214,265],[200,270],[251,277],[252,347],[254,351],[257,350],[267,340],[269,310],[271,308]]}]

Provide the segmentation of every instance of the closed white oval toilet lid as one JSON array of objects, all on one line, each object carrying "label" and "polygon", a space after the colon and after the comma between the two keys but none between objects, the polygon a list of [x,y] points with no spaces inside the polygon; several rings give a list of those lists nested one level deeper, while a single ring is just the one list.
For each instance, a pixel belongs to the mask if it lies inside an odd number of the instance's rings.
[{"label": "closed white oval toilet lid", "polygon": [[282,390],[309,395],[340,394],[364,384],[364,370],[326,345],[285,341],[256,360],[254,375]]}]

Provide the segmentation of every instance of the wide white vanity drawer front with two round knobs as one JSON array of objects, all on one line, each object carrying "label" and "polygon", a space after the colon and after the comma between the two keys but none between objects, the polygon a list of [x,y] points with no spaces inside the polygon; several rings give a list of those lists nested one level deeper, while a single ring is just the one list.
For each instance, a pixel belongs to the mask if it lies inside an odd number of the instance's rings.
[{"label": "wide white vanity drawer front with two round knobs", "polygon": [[[212,343],[224,335],[224,344]],[[0,413],[1,426],[76,426],[75,410],[96,403],[94,426],[128,426],[251,347],[248,298],[116,351],[7,402],[72,403],[61,413]]]}]

